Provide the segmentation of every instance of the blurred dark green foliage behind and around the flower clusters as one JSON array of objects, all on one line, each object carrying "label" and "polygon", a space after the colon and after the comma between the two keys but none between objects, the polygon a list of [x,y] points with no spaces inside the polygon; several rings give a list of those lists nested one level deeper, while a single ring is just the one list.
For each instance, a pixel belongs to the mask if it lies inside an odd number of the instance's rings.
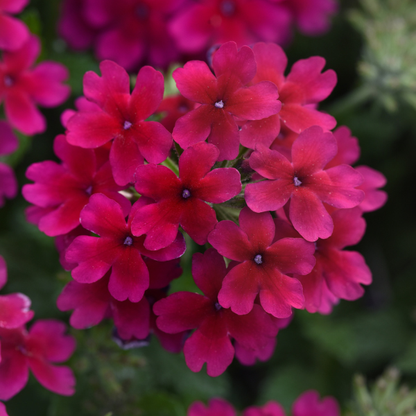
[{"label": "blurred dark green foliage behind and around the flower clusters", "polygon": [[[32,0],[20,16],[42,40],[40,60],[65,64],[71,73],[71,100],[43,110],[48,130],[19,136],[16,153],[3,158],[15,168],[19,187],[26,168],[55,160],[52,144],[64,129],[60,114],[82,95],[85,71],[97,71],[92,51],[74,52],[57,34],[60,1]],[[331,28],[318,37],[295,33],[285,49],[289,66],[320,55],[334,69],[338,85],[320,107],[347,125],[359,139],[361,159],[388,179],[388,202],[365,214],[367,232],[354,248],[373,273],[373,283],[356,302],[341,301],[331,315],[295,311],[279,332],[274,356],[244,367],[234,360],[215,379],[205,369],[192,373],[182,354],[169,354],[156,340],[123,351],[111,339],[110,324],[85,331],[70,329],[78,342],[69,365],[77,392],[60,397],[33,378],[8,401],[10,416],[185,415],[192,401],[223,397],[237,409],[268,400],[287,410],[301,392],[316,389],[351,408],[352,380],[361,373],[375,380],[395,365],[403,381],[416,387],[416,5],[405,0],[340,0]],[[54,241],[26,223],[28,203],[19,195],[0,210],[0,254],[8,264],[4,293],[23,292],[36,318],[69,313],[55,306],[69,274],[62,270]],[[195,248],[196,250],[196,248]],[[351,249],[350,249],[351,250]],[[191,250],[184,265],[189,264]],[[192,290],[190,270],[173,291]],[[32,376],[31,376],[32,377]]]}]

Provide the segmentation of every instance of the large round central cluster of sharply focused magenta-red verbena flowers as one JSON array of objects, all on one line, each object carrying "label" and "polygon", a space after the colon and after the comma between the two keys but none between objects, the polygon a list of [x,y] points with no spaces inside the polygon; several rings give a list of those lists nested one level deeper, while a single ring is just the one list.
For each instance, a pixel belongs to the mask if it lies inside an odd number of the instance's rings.
[{"label": "large round central cluster of sharply focused magenta-red verbena flowers", "polygon": [[[336,84],[324,64],[300,60],[285,75],[277,44],[227,42],[211,67],[176,69],[180,95],[164,99],[152,67],[132,92],[114,62],[85,74],[55,139],[60,162],[30,166],[23,189],[28,220],[71,270],[58,307],[73,327],[111,318],[123,347],[154,333],[218,376],[234,356],[268,360],[293,308],[330,313],[363,295],[371,272],[344,249],[361,240],[363,212],[384,204],[385,178],[352,167],[356,138],[318,110]],[[168,295],[183,232],[207,248],[192,259],[200,293]]]}]

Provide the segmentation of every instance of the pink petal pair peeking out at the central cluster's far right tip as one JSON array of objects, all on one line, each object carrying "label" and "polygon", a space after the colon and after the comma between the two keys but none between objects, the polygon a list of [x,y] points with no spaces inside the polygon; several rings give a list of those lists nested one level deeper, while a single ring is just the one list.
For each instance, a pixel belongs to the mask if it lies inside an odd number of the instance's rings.
[{"label": "pink petal pair peeking out at the central cluster's far right tip", "polygon": [[364,178],[363,183],[357,189],[361,189],[365,193],[365,198],[358,207],[363,212],[375,211],[383,207],[387,202],[387,193],[379,190],[387,183],[383,173],[368,166],[357,166],[356,171],[361,173]]}]

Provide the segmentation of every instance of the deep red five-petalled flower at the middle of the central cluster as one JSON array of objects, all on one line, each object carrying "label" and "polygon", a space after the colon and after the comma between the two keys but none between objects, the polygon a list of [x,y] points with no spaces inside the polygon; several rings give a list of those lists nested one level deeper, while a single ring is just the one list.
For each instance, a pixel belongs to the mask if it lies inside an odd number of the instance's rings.
[{"label": "deep red five-petalled flower at the middle of the central cluster", "polygon": [[179,160],[180,177],[166,166],[147,164],[137,168],[137,192],[156,201],[137,210],[132,220],[132,233],[146,234],[144,246],[148,250],[171,244],[179,225],[196,243],[207,243],[217,220],[214,209],[205,201],[219,204],[241,191],[236,169],[210,171],[219,153],[214,145],[204,142],[187,148]]}]

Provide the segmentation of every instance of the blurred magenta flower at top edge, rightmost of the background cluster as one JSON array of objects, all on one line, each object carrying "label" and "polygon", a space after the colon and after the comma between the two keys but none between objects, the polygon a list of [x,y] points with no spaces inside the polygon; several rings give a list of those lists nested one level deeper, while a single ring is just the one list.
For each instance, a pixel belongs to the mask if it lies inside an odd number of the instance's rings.
[{"label": "blurred magenta flower at top edge, rightmost of the background cluster", "polygon": [[329,18],[338,11],[334,0],[286,0],[300,31],[305,35],[322,35],[329,30]]}]

